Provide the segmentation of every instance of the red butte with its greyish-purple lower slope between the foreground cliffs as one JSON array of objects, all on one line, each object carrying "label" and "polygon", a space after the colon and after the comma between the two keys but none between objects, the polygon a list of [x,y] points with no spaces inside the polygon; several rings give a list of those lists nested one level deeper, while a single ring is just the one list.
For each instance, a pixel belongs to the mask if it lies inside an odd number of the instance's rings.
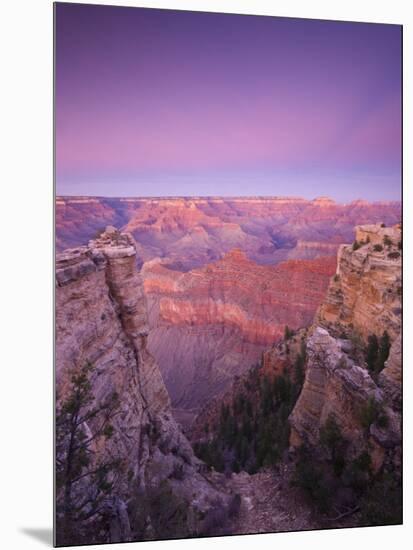
[{"label": "red butte with its greyish-purple lower slope between the foreground cliffs", "polygon": [[239,249],[187,272],[146,262],[148,343],[174,407],[198,408],[222,394],[286,325],[310,324],[335,269],[332,256],[263,266]]}]

